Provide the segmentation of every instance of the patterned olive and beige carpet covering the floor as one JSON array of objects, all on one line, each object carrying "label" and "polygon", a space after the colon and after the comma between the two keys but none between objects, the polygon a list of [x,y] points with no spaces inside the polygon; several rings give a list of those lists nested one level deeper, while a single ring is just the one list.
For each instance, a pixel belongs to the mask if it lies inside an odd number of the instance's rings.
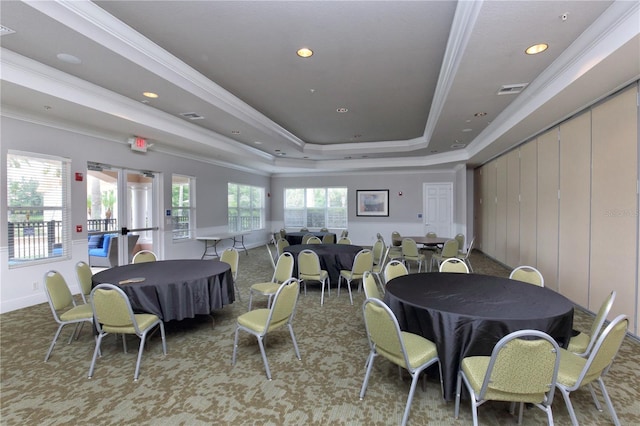
[{"label": "patterned olive and beige carpet covering the floor", "polygon": [[[231,366],[235,318],[246,312],[248,287],[271,278],[264,247],[240,256],[242,302],[214,312],[211,318],[167,324],[168,355],[154,336],[145,348],[140,380],[133,382],[137,344],[129,353],[109,338],[103,346],[93,379],[87,371],[94,347],[89,329],[66,344],[72,328],[60,338],[44,363],[57,324],[47,304],[0,315],[2,425],[281,425],[281,424],[399,424],[409,390],[408,376],[400,380],[393,365],[378,358],[367,395],[358,395],[364,377],[368,344],[362,320],[363,293],[354,293],[354,306],[342,292],[331,292],[320,307],[318,287],[300,296],[294,329],[302,361],[295,358],[286,329],[270,334],[267,356],[273,380],[268,381],[255,338],[241,334],[238,358]],[[477,273],[507,276],[508,271],[481,253],[471,258]],[[68,280],[73,277],[67,277]],[[257,307],[266,303],[260,300]],[[574,327],[586,330],[591,317],[576,310]],[[623,425],[640,424],[640,344],[626,338],[606,383]],[[572,394],[582,425],[612,424],[598,412],[588,390]],[[471,424],[468,401],[458,420],[453,402],[440,395],[437,378],[419,386],[409,424]],[[553,403],[556,424],[570,424],[558,392]],[[516,424],[508,404],[488,402],[480,407],[485,425]],[[526,410],[524,425],[546,424],[536,408]]]}]

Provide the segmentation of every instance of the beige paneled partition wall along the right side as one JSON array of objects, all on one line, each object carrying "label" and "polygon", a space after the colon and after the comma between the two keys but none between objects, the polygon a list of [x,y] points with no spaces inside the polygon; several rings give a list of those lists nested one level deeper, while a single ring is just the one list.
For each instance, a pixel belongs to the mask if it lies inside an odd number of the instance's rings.
[{"label": "beige paneled partition wall along the right side", "polygon": [[[609,319],[628,315],[635,335],[640,329],[637,99],[634,84],[475,174],[483,200],[476,213],[482,224],[479,247],[510,267],[537,267],[546,286],[592,312],[615,290]],[[499,182],[505,177],[506,183]]]}]

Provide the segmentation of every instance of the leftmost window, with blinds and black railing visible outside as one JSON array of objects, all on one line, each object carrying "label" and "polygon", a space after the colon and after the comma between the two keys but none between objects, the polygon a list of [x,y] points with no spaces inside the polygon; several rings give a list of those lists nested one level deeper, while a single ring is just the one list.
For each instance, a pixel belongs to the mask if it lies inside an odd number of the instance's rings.
[{"label": "leftmost window, with blinds and black railing visible outside", "polygon": [[60,157],[7,153],[10,266],[68,257],[69,164]]}]

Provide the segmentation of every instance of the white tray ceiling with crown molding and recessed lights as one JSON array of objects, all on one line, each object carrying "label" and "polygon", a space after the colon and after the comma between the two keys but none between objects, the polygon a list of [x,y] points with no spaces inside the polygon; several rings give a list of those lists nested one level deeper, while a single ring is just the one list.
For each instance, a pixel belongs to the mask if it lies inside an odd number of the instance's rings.
[{"label": "white tray ceiling with crown molding and recessed lights", "polygon": [[[2,114],[264,173],[474,165],[638,79],[638,9],[3,0]],[[514,84],[527,86],[498,95]]]}]

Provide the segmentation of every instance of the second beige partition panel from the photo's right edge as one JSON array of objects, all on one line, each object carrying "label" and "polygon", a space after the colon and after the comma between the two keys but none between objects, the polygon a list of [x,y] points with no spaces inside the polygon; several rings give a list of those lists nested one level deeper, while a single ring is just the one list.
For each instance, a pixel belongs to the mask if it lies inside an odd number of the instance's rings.
[{"label": "second beige partition panel from the photo's right edge", "polygon": [[560,126],[558,287],[581,306],[589,302],[591,112]]}]

